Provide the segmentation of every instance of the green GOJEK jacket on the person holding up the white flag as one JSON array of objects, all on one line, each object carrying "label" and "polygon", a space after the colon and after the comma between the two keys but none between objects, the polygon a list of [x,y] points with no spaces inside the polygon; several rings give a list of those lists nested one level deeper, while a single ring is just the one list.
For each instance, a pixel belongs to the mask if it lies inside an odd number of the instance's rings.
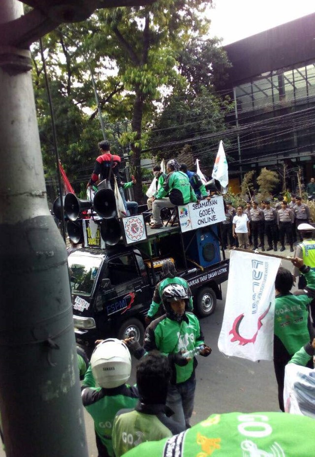
[{"label": "green GOJEK jacket on the person holding up the white flag", "polygon": [[[315,271],[307,267],[301,270],[307,280],[307,285],[315,289]],[[308,330],[308,306],[313,297],[305,295],[278,295],[275,303],[275,358],[284,351],[293,355],[301,346],[310,340]]]}]

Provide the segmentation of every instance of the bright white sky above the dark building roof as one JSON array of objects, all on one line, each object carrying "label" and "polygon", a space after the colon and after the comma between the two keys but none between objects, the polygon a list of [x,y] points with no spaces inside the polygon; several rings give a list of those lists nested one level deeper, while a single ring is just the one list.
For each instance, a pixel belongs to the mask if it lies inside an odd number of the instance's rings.
[{"label": "bright white sky above the dark building roof", "polygon": [[314,0],[214,0],[210,36],[229,44],[315,12]]}]

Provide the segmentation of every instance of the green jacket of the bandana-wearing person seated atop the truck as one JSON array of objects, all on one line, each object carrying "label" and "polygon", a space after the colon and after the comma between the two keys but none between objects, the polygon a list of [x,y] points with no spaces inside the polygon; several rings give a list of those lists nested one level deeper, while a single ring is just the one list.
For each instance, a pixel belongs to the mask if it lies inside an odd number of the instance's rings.
[{"label": "green jacket of the bandana-wearing person seated atop the truck", "polygon": [[165,179],[163,187],[161,187],[156,199],[164,198],[169,195],[169,199],[173,205],[187,205],[190,202],[196,202],[197,197],[194,193],[189,178],[186,173],[172,172]]}]

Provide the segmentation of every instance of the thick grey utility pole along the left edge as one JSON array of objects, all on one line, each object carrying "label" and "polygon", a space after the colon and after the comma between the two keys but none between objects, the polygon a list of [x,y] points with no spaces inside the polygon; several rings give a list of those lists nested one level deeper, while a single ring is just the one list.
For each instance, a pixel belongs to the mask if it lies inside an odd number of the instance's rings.
[{"label": "thick grey utility pole along the left edge", "polygon": [[8,457],[87,457],[63,239],[48,211],[30,44],[98,7],[146,0],[1,0],[0,411]]}]

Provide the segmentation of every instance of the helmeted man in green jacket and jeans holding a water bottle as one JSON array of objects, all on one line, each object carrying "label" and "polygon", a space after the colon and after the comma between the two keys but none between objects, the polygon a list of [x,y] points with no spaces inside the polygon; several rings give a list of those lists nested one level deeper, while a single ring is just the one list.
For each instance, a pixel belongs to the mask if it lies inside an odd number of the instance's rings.
[{"label": "helmeted man in green jacket and jeans holding a water bottle", "polygon": [[[155,319],[147,327],[144,349],[158,350],[166,354],[172,368],[171,384],[166,404],[174,411],[173,419],[188,428],[193,411],[196,387],[195,362],[183,352],[195,350],[204,345],[200,324],[196,316],[187,313],[188,290],[180,284],[169,284],[162,293],[165,315]],[[197,349],[200,355],[208,356],[211,349],[204,345]]]}]

